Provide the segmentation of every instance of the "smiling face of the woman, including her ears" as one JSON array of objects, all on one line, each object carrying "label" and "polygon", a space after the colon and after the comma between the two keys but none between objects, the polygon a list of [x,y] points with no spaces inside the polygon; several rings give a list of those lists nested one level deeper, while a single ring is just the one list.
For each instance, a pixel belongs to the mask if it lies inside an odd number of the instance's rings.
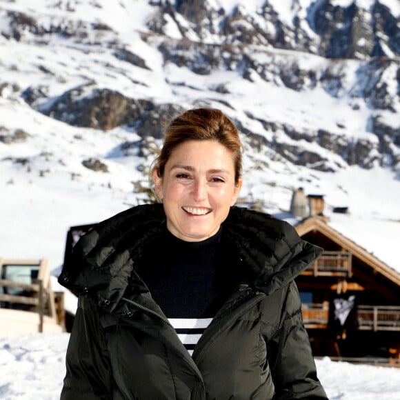
[{"label": "smiling face of the woman, including her ears", "polygon": [[153,178],[168,230],[185,241],[202,241],[218,232],[242,183],[235,183],[232,154],[214,140],[181,143],[170,155],[163,177],[154,171]]}]

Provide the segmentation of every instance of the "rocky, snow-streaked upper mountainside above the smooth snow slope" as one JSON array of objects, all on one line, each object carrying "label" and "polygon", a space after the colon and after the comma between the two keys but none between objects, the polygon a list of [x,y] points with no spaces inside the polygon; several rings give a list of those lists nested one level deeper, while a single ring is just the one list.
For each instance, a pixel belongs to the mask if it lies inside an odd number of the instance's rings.
[{"label": "rocky, snow-streaked upper mountainside above the smooth snow slope", "polygon": [[[0,96],[70,126],[135,132],[126,155],[146,157],[184,108],[212,106],[266,149],[261,163],[400,171],[399,3],[288,3],[4,1]],[[0,133],[8,146],[30,140]]]}]

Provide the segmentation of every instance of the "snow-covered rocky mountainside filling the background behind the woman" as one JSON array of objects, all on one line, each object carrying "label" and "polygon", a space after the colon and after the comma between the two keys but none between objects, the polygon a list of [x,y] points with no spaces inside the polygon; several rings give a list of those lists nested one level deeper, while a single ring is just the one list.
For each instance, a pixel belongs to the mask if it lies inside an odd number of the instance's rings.
[{"label": "snow-covered rocky mountainside filling the background behind the woman", "polygon": [[[0,257],[63,261],[70,226],[149,201],[163,126],[220,108],[241,202],[323,194],[400,272],[398,0],[3,0]],[[335,214],[338,206],[348,214]]]}]

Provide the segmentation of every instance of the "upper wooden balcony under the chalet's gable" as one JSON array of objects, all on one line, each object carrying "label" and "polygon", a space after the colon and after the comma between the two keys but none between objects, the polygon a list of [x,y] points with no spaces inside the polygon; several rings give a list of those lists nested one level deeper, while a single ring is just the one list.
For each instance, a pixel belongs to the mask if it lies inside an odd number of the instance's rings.
[{"label": "upper wooden balcony under the chalet's gable", "polygon": [[343,277],[352,276],[352,254],[346,251],[324,251],[302,275],[314,277]]}]

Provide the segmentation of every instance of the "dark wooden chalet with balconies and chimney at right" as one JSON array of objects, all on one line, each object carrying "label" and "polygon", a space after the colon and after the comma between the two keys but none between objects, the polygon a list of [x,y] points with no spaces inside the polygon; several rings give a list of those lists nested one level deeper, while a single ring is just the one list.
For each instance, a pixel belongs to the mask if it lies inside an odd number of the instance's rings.
[{"label": "dark wooden chalet with balconies and chimney at right", "polygon": [[310,217],[295,226],[324,249],[296,279],[314,355],[400,366],[400,273],[331,228],[322,210],[310,197]]}]

